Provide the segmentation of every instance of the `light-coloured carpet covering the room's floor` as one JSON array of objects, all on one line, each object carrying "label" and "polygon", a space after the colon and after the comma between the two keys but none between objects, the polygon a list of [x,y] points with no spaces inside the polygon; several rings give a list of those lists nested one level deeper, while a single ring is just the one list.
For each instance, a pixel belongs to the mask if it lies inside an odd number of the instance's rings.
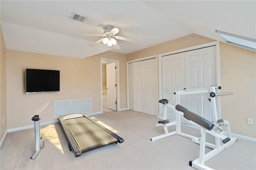
[{"label": "light-coloured carpet covering the room's floor", "polygon": [[[62,128],[59,123],[54,123],[41,127],[45,148],[35,160],[30,160],[35,150],[34,128],[10,132],[0,149],[0,169],[194,169],[188,162],[199,157],[199,144],[178,135],[150,141],[151,137],[164,133],[163,127],[155,127],[159,120],[155,116],[114,111],[93,117],[108,125],[124,138],[124,142],[97,148],[75,158],[69,151]],[[43,119],[43,115],[40,118]],[[182,127],[182,131],[199,135],[199,130],[193,128]],[[209,151],[206,148],[206,152]],[[205,165],[214,169],[255,170],[256,144],[238,139]]]}]

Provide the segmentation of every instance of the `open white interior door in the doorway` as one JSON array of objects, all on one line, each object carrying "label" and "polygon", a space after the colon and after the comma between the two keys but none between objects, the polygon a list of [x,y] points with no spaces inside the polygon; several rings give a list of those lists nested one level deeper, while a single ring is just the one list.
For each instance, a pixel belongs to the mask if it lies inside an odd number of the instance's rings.
[{"label": "open white interior door in the doorway", "polygon": [[116,111],[116,63],[106,65],[107,108]]}]

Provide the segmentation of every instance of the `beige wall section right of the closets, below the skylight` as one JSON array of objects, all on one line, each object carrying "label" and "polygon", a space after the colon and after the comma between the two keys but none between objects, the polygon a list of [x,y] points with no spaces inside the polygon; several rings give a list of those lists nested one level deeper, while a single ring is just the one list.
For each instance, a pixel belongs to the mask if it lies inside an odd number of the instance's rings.
[{"label": "beige wall section right of the closets, below the skylight", "polygon": [[[256,52],[220,43],[221,115],[229,120],[231,132],[256,138]],[[254,125],[247,125],[247,118]]]}]

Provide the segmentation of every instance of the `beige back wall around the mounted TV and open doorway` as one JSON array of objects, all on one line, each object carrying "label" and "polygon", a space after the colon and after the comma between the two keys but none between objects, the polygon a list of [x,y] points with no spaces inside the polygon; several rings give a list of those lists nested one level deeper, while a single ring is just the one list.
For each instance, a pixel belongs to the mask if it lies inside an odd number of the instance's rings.
[{"label": "beige back wall around the mounted TV and open doorway", "polygon": [[[100,112],[100,57],[85,59],[62,57],[6,49],[7,128],[33,125],[31,118],[40,115],[41,123],[53,121],[53,101],[92,98],[92,112]],[[126,55],[111,53],[120,58],[120,74],[125,75]],[[60,91],[25,94],[25,69],[60,70]],[[125,94],[120,108],[126,108],[126,76],[120,78],[120,93]],[[22,120],[22,121],[21,121]]]}]

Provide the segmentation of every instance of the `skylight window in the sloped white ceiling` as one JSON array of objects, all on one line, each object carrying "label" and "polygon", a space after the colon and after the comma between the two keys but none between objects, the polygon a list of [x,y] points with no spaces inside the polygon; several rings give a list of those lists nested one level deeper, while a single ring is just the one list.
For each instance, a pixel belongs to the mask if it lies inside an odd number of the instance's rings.
[{"label": "skylight window in the sloped white ceiling", "polygon": [[252,38],[237,36],[234,34],[229,34],[218,30],[216,30],[216,33],[219,34],[219,36],[221,36],[221,38],[223,38],[227,43],[231,43],[256,51],[256,40]]}]

